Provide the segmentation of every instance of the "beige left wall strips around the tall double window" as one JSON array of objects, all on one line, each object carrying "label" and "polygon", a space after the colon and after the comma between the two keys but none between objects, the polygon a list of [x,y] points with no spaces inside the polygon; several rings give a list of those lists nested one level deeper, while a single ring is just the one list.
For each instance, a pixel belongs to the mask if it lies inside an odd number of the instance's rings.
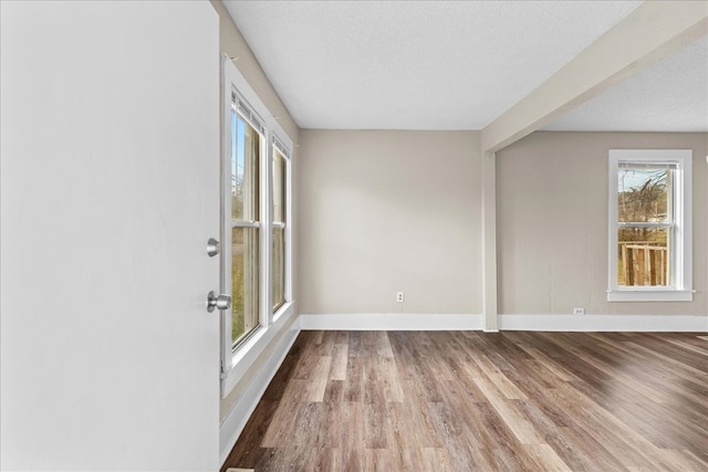
[{"label": "beige left wall strips around the tall double window", "polygon": [[[256,60],[256,56],[253,55],[252,51],[248,46],[240,31],[236,28],[236,24],[233,24],[233,21],[231,20],[229,12],[226,10],[223,4],[220,1],[211,1],[211,4],[214,6],[214,9],[219,14],[220,53],[226,53],[231,57],[238,56],[238,60],[235,61],[236,67],[239,70],[241,75],[246,77],[251,88],[253,88],[253,91],[258,94],[259,98],[268,107],[270,113],[273,116],[278,117],[278,123],[280,124],[280,126],[282,126],[283,130],[288,133],[288,135],[293,140],[293,143],[296,144],[299,138],[299,132],[300,132],[300,129],[298,128],[298,124],[290,116],[290,113],[281,102],[280,97],[278,96],[278,93],[275,92],[275,90],[269,82],[268,77],[263,73],[263,70],[261,69],[260,64]],[[294,182],[293,195],[296,195],[298,192],[296,190],[298,172],[299,172],[298,159],[299,159],[298,149],[295,147],[295,149],[293,149],[293,159],[292,159],[292,171],[293,171],[293,182]],[[295,203],[296,202],[293,201],[293,220],[296,221]],[[293,233],[294,231],[296,231],[296,223],[293,224]],[[293,264],[296,268],[298,266],[296,253],[294,255],[295,255],[295,261],[293,262]],[[293,293],[296,295],[298,293],[296,279],[293,280],[293,284],[294,284]],[[296,302],[296,296],[295,296],[295,302]],[[296,316],[296,313],[298,313],[298,307],[295,303],[295,316]],[[293,322],[295,319],[295,316],[293,316]],[[263,354],[261,354],[261,356],[253,363],[251,368],[243,375],[240,382],[236,385],[236,387],[231,390],[231,392],[227,398],[221,400],[221,403],[220,403],[221,420],[223,420],[228,416],[228,413],[231,411],[238,398],[242,395],[243,390],[246,389],[248,384],[252,380],[252,378],[256,376],[256,374],[266,364],[267,359],[272,354],[274,346],[277,346],[282,340],[282,337],[291,328],[293,322],[287,323],[287,325],[282,327],[281,332],[273,338],[270,345],[263,350]]]}]

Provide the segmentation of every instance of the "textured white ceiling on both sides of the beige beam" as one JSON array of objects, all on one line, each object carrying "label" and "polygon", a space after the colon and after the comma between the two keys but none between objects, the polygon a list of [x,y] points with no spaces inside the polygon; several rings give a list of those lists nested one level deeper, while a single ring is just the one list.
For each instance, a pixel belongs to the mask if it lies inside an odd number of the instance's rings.
[{"label": "textured white ceiling on both sides of the beige beam", "polygon": [[[302,128],[481,129],[641,1],[225,1]],[[544,129],[708,130],[708,42]]]}]

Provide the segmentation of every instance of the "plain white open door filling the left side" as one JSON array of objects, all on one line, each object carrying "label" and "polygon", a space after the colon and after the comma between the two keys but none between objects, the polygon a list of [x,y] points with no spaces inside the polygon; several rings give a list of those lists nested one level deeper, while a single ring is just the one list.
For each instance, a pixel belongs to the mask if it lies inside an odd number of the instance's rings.
[{"label": "plain white open door filling the left side", "polygon": [[218,17],[0,9],[0,468],[216,470]]}]

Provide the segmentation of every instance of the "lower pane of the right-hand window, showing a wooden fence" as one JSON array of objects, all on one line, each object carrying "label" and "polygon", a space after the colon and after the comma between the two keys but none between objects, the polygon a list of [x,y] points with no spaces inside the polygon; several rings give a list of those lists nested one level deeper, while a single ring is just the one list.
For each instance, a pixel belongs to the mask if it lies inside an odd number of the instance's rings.
[{"label": "lower pane of the right-hand window, showing a wooden fence", "polygon": [[617,230],[617,285],[669,285],[669,229]]}]

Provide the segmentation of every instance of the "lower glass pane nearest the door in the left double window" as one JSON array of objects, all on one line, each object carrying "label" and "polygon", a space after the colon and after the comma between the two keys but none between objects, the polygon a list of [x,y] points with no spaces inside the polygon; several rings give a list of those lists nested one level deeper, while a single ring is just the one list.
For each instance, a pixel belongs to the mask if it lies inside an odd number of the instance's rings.
[{"label": "lower glass pane nearest the door in the left double window", "polygon": [[231,340],[237,344],[259,325],[258,228],[231,229]]}]

